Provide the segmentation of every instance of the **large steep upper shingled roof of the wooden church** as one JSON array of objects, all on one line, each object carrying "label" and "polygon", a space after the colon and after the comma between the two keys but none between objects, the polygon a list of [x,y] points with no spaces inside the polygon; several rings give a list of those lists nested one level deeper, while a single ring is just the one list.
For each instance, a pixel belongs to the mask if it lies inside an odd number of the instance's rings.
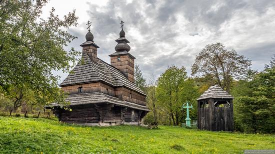
[{"label": "large steep upper shingled roof of the wooden church", "polygon": [[60,87],[102,81],[113,87],[127,87],[144,96],[146,94],[134,83],[130,82],[118,69],[97,58],[92,61],[87,53],[72,69],[72,72],[59,84]]}]

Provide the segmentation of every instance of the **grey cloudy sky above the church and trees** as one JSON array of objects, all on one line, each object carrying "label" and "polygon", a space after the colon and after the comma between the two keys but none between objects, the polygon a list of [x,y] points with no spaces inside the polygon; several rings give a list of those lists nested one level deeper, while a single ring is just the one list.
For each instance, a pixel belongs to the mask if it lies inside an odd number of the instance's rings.
[{"label": "grey cloudy sky above the church and trees", "polygon": [[[81,51],[89,20],[98,57],[108,63],[123,20],[129,52],[145,78],[171,65],[185,66],[190,75],[195,56],[210,43],[235,49],[255,70],[275,54],[275,0],[51,0],[43,17],[51,7],[60,16],[75,9],[79,17],[68,30],[78,39],[66,49]],[[61,80],[67,75],[55,73]]]}]

